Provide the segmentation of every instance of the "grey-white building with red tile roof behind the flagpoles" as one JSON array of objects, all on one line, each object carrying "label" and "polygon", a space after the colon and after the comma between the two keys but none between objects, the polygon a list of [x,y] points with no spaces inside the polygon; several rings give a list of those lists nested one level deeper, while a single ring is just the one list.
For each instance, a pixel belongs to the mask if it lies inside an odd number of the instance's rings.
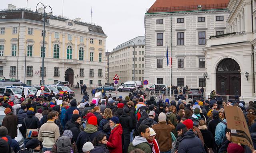
[{"label": "grey-white building with red tile roof behind the flagpoles", "polygon": [[[203,48],[210,36],[230,32],[228,2],[156,0],[145,14],[145,80],[168,86],[205,86]],[[172,72],[167,66],[167,47]]]}]

